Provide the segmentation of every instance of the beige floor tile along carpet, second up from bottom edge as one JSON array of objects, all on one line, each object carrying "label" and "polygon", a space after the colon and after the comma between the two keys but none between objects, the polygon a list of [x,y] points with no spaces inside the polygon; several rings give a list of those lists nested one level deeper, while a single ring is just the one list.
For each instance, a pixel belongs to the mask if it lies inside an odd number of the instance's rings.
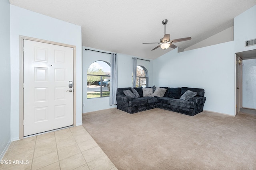
[{"label": "beige floor tile along carpet, second up from bottom edge", "polygon": [[105,153],[102,151],[102,149],[99,146],[94,147],[92,149],[85,150],[84,152],[82,152],[82,154],[87,163],[105,155]]}]

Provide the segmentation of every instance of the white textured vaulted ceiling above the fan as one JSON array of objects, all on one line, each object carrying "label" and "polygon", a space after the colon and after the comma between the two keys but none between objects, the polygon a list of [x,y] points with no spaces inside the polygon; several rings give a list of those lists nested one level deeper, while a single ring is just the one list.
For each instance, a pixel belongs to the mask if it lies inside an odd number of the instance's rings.
[{"label": "white textured vaulted ceiling above the fan", "polygon": [[186,49],[228,27],[256,0],[10,0],[10,4],[82,26],[82,45],[155,59],[172,50],[158,48],[167,19],[170,39]]}]

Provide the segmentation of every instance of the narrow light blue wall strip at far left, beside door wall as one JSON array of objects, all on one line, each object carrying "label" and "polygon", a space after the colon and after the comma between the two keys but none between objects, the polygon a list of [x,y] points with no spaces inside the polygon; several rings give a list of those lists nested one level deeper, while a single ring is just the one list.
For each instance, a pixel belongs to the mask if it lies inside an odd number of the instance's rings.
[{"label": "narrow light blue wall strip at far left, beside door wall", "polygon": [[0,160],[8,149],[10,137],[11,71],[10,71],[10,4],[0,0]]}]

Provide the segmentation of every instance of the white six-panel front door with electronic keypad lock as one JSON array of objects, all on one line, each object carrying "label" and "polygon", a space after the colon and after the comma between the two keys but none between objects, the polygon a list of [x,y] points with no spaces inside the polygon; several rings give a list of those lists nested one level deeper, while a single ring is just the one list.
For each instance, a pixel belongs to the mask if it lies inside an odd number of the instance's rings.
[{"label": "white six-panel front door with electronic keypad lock", "polygon": [[24,136],[73,125],[73,48],[24,39]]}]

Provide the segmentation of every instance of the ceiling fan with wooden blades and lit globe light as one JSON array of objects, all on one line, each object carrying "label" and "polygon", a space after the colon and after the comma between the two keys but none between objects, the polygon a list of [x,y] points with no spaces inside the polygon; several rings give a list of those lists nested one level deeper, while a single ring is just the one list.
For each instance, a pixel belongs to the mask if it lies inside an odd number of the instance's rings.
[{"label": "ceiling fan with wooden blades and lit globe light", "polygon": [[154,49],[152,49],[151,51],[157,49],[158,47],[161,47],[162,49],[168,49],[169,47],[175,49],[175,48],[177,48],[177,46],[172,43],[177,43],[180,41],[187,41],[187,40],[191,39],[191,37],[186,37],[186,38],[170,40],[170,34],[165,33],[165,25],[167,24],[167,22],[168,22],[168,20],[162,21],[162,24],[164,25],[164,37],[162,39],[160,39],[160,43],[142,43],[142,44],[160,44],[160,45],[156,46]]}]

